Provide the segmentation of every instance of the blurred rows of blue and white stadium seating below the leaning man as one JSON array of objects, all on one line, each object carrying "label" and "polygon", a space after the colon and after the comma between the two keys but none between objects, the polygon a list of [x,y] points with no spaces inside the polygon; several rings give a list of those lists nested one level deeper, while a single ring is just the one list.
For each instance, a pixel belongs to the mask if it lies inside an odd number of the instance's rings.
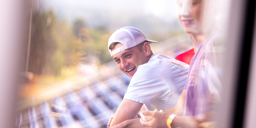
[{"label": "blurred rows of blue and white stadium seating below the leaning man", "polygon": [[111,76],[22,110],[16,117],[17,128],[105,128],[129,84],[123,78]]}]

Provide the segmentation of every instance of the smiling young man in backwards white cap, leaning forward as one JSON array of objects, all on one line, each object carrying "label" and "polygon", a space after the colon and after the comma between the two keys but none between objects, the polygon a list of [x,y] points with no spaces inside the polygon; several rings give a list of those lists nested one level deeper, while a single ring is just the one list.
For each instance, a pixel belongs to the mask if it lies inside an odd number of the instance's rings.
[{"label": "smiling young man in backwards white cap, leaning forward", "polygon": [[150,43],[157,42],[147,40],[135,27],[119,28],[109,38],[108,48],[113,60],[131,78],[110,127],[138,118],[143,104],[146,110],[167,110],[178,101],[189,65],[163,54],[153,54]]}]

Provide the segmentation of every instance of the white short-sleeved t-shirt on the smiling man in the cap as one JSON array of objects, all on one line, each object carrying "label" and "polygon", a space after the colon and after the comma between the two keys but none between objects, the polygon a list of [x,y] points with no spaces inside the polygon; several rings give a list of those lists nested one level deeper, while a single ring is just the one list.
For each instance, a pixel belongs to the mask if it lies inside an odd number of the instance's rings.
[{"label": "white short-sleeved t-shirt on the smiling man in the cap", "polygon": [[147,110],[174,107],[183,91],[189,65],[163,54],[152,55],[149,62],[138,66],[124,99],[140,102]]}]

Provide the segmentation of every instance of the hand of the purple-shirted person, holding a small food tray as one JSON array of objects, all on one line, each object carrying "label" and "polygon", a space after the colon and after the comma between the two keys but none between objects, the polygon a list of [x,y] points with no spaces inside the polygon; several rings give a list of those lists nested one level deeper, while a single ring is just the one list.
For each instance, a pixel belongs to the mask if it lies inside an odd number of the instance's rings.
[{"label": "hand of the purple-shirted person, holding a small food tray", "polygon": [[150,121],[143,121],[140,119],[140,123],[143,126],[153,127],[153,128],[168,128],[166,125],[166,120],[168,119],[169,115],[165,112],[156,112],[156,111],[141,111],[145,116],[152,116],[152,120]]}]

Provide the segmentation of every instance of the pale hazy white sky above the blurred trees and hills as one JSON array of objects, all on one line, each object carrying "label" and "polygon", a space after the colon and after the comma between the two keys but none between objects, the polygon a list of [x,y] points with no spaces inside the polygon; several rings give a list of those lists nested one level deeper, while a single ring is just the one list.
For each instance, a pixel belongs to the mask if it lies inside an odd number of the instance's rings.
[{"label": "pale hazy white sky above the blurred trees and hills", "polygon": [[97,13],[106,18],[151,15],[166,22],[177,19],[175,0],[41,0],[40,7],[53,8],[59,18],[69,22],[77,17],[90,19]]}]

